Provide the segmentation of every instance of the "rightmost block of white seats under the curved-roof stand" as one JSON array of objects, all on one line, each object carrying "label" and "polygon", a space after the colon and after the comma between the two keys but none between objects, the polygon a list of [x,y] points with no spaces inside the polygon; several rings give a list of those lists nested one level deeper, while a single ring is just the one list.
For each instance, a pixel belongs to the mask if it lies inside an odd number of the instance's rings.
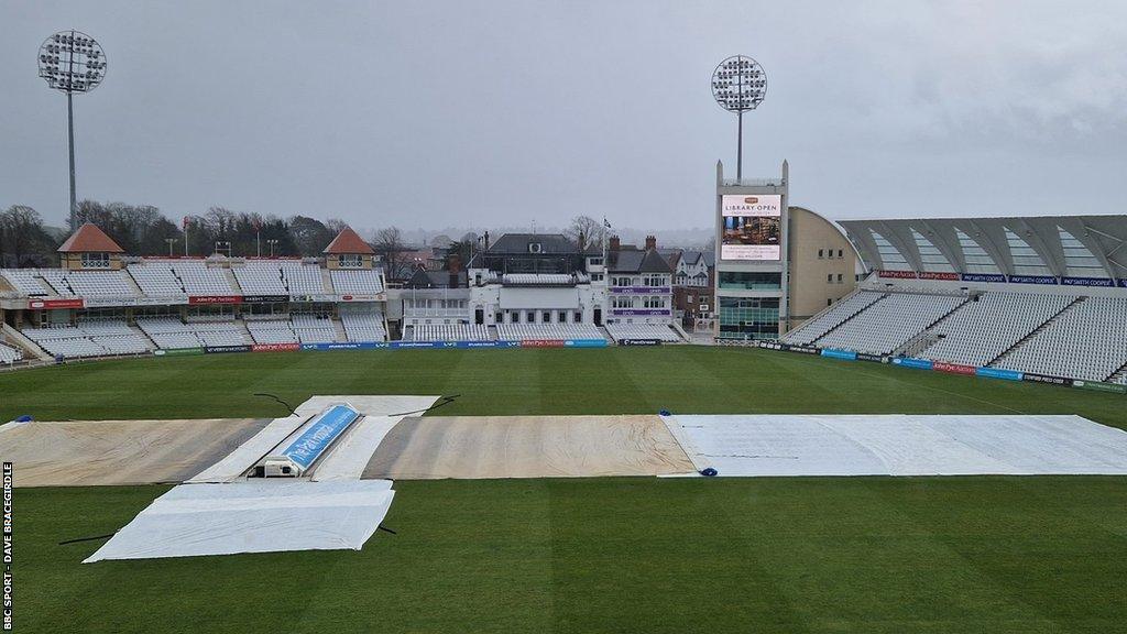
[{"label": "rightmost block of white seats under the curved-roof stand", "polygon": [[1127,298],[1083,298],[993,364],[1053,377],[1109,379],[1127,363],[1125,316]]}]

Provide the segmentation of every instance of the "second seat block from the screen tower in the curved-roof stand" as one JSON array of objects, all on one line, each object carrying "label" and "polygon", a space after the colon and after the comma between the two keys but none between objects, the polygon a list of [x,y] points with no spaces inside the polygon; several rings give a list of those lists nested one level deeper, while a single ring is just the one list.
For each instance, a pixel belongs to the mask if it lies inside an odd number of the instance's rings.
[{"label": "second seat block from the screen tower in the curved-roof stand", "polygon": [[965,301],[961,296],[890,293],[816,341],[824,347],[890,354]]}]

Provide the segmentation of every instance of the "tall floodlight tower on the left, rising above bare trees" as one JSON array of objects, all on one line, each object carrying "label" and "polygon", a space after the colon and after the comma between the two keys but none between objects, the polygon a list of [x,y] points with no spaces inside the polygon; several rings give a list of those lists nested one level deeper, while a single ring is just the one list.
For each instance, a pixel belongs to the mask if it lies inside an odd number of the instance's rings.
[{"label": "tall floodlight tower on the left, rising above bare trees", "polygon": [[89,35],[60,30],[39,46],[39,77],[47,86],[66,93],[66,129],[70,139],[71,209],[70,228],[77,229],[74,199],[74,105],[76,93],[89,93],[106,77],[106,53]]}]

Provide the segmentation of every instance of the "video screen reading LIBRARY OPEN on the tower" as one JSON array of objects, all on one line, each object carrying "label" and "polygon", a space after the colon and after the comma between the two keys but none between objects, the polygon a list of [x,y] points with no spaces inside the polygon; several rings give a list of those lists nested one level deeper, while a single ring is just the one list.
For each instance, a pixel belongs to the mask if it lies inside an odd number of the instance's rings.
[{"label": "video screen reading LIBRARY OPEN on the tower", "polygon": [[721,196],[720,259],[772,261],[782,255],[782,196]]}]

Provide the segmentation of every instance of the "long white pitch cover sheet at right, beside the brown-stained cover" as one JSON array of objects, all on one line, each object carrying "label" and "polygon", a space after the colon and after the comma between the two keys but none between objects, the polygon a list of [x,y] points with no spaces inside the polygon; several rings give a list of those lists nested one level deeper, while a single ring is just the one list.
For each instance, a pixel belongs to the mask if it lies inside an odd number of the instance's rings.
[{"label": "long white pitch cover sheet at right, beside the brown-stained cover", "polygon": [[1127,474],[1127,432],[1071,415],[666,419],[698,469],[729,476]]}]

